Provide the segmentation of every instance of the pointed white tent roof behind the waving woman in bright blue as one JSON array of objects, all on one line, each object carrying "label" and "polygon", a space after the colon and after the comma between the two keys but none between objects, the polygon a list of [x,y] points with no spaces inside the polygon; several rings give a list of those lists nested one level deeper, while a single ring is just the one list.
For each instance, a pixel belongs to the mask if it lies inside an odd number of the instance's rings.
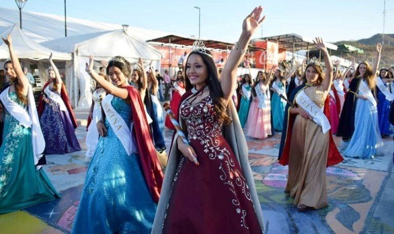
[{"label": "pointed white tent roof behind the waving woman in bright blue", "polygon": [[153,46],[134,36],[131,29],[63,37],[42,45],[62,52],[73,52],[77,56],[93,54],[96,60],[107,60],[121,55],[128,60],[142,57],[144,60],[160,61],[162,56]]}]

